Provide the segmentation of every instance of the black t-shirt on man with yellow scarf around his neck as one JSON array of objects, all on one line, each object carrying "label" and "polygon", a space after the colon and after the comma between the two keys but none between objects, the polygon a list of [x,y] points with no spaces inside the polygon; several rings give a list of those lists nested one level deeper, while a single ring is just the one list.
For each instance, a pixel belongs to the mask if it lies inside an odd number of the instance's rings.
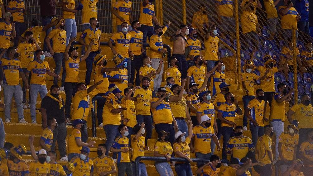
[{"label": "black t-shirt on man with yellow scarf around his neck", "polygon": [[41,107],[47,110],[47,120],[55,118],[58,123],[65,122],[65,114],[64,114],[64,101],[62,99],[63,107],[60,109],[59,102],[54,99],[45,96],[41,101]]}]

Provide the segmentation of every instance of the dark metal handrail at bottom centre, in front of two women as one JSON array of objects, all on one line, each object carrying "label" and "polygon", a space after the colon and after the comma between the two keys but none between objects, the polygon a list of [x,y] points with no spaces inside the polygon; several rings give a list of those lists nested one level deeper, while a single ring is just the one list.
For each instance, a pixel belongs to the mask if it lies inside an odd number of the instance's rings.
[{"label": "dark metal handrail at bottom centre, in front of two women", "polygon": [[[190,158],[190,159],[192,159],[192,162],[195,162],[195,163],[198,163],[198,162],[207,163],[210,161],[208,159],[199,159],[199,158]],[[139,176],[138,164],[139,164],[140,160],[167,162],[166,158],[164,158],[164,157],[139,156],[135,159],[135,176]],[[170,161],[188,162],[188,160],[185,158],[171,158]],[[221,160],[221,163],[227,163],[229,165],[228,160]]]}]

